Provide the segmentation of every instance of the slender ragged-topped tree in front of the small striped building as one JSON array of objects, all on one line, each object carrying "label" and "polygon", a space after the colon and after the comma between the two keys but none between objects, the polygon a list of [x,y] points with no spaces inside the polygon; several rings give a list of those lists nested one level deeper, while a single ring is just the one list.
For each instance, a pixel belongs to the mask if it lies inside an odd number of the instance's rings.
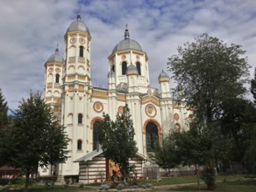
[{"label": "slender ragged-topped tree in front of the small striped building", "polygon": [[98,132],[104,156],[119,164],[125,179],[129,175],[129,159],[134,157],[138,151],[128,106],[124,106],[124,113],[117,113],[116,121],[110,120],[108,114],[103,114],[103,121]]}]

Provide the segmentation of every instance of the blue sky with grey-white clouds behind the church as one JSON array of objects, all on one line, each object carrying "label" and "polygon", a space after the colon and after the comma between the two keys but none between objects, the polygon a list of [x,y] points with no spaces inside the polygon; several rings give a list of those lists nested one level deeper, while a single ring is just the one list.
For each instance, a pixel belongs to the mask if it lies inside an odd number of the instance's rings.
[{"label": "blue sky with grey-white clouds behind the church", "polygon": [[125,24],[147,53],[150,84],[156,88],[167,58],[205,32],[228,45],[242,45],[255,67],[255,7],[254,0],[1,0],[0,88],[11,109],[30,90],[43,92],[44,64],[57,44],[63,55],[63,36],[78,10],[92,37],[94,86],[107,86],[108,56],[124,39]]}]

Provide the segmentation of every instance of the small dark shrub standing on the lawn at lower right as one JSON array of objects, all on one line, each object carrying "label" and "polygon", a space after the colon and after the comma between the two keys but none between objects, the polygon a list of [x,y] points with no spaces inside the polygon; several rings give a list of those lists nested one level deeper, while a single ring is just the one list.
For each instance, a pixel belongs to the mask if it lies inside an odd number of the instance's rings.
[{"label": "small dark shrub standing on the lawn at lower right", "polygon": [[207,185],[207,189],[216,189],[216,172],[213,166],[209,165],[203,168],[202,179]]}]

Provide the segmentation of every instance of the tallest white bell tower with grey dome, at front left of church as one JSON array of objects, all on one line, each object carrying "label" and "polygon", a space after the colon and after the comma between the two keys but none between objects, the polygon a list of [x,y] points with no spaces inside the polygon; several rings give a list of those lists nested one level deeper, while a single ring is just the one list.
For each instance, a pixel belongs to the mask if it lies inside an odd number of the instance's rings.
[{"label": "tallest white bell tower with grey dome, at front left of church", "polygon": [[89,99],[91,93],[90,33],[78,15],[64,36],[64,73],[61,122],[67,127],[68,160],[60,166],[60,175],[76,175],[75,160],[89,153]]}]

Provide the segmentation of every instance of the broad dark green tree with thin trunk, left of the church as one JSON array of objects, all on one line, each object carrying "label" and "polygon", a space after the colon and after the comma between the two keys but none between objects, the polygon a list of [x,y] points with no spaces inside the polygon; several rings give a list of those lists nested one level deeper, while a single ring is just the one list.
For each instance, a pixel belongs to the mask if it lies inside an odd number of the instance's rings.
[{"label": "broad dark green tree with thin trunk, left of the church", "polygon": [[22,99],[14,112],[13,126],[5,138],[9,151],[8,165],[25,173],[25,189],[29,175],[37,174],[39,166],[65,162],[68,158],[68,138],[64,127],[53,115],[39,93]]}]

